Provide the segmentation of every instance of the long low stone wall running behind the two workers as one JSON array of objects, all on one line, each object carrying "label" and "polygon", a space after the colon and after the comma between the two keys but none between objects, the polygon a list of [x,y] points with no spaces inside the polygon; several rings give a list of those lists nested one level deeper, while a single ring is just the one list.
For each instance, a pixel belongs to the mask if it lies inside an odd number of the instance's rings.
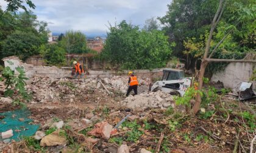
[{"label": "long low stone wall running behind the two workers", "polygon": [[[27,78],[32,78],[35,76],[39,77],[50,77],[50,78],[62,78],[62,77],[71,77],[72,67],[55,67],[55,66],[35,66],[33,64],[23,63],[18,57],[10,56],[3,59],[4,66],[10,66],[12,70],[15,70],[15,67],[22,66],[26,72]],[[8,61],[13,63],[10,64]],[[113,75],[128,75],[129,70],[123,71],[114,71],[114,70],[88,70],[86,77],[88,78],[109,78]],[[162,77],[162,69],[154,70],[134,70],[135,74],[140,78],[159,78]],[[17,73],[15,71],[15,73]]]}]

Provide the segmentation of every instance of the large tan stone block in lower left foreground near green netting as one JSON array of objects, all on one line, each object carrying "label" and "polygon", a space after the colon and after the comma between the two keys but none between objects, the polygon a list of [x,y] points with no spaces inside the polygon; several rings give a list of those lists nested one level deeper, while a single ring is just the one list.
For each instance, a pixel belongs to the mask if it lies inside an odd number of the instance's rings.
[{"label": "large tan stone block in lower left foreground near green netting", "polygon": [[46,135],[40,141],[40,146],[57,146],[65,145],[67,143],[65,135],[60,134],[60,130],[52,132],[52,134]]}]

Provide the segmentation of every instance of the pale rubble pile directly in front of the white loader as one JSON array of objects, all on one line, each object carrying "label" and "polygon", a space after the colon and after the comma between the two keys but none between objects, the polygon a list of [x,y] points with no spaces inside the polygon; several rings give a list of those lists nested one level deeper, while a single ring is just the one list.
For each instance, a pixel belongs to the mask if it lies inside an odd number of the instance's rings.
[{"label": "pale rubble pile directly in front of the white loader", "polygon": [[158,90],[149,94],[130,95],[121,104],[132,109],[175,107],[173,96]]}]

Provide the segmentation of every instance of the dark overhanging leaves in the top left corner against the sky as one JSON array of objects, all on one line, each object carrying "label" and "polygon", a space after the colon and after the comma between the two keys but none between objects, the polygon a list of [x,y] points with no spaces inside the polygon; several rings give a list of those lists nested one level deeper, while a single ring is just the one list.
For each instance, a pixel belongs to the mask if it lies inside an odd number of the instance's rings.
[{"label": "dark overhanging leaves in the top left corner against the sky", "polygon": [[[18,11],[18,9],[23,9],[25,12],[28,12],[26,5],[24,5],[23,0],[4,0],[7,2],[7,9],[1,13],[0,18],[4,15],[5,12],[14,12]],[[31,9],[35,9],[35,4],[30,0],[25,0],[27,6]]]}]

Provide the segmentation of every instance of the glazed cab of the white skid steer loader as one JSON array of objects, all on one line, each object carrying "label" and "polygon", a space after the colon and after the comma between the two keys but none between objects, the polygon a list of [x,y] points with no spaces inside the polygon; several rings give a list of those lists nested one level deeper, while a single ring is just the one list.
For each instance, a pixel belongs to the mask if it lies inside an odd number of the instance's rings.
[{"label": "glazed cab of the white skid steer loader", "polygon": [[183,70],[163,69],[162,81],[182,80],[183,78],[184,78]]}]

